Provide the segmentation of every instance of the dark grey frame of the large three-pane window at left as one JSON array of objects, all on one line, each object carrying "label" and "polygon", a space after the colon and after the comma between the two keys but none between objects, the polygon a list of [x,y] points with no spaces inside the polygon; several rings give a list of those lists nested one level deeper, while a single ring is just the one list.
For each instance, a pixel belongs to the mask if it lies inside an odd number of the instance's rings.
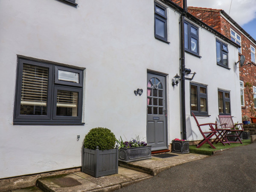
[{"label": "dark grey frame of the large three-pane window at left", "polygon": [[[22,87],[22,74],[23,64],[35,65],[39,67],[46,67],[49,69],[48,72],[48,93],[47,93],[47,115],[21,115],[20,114],[20,103],[21,103],[21,87]],[[73,86],[70,84],[57,84],[54,82],[55,67],[61,67],[66,71],[72,71],[73,68],[57,66],[41,61],[33,61],[30,59],[19,58],[17,59],[17,77],[16,77],[16,89],[15,89],[15,105],[14,105],[14,125],[82,125],[82,97],[83,97],[83,86]],[[76,69],[77,70],[77,69]],[[81,73],[81,85],[83,84],[83,70],[78,70]],[[67,82],[69,83],[69,82]],[[80,84],[80,83],[79,83]],[[55,90],[70,90],[78,92],[78,116],[57,116],[54,115],[56,112],[56,100]]]}]

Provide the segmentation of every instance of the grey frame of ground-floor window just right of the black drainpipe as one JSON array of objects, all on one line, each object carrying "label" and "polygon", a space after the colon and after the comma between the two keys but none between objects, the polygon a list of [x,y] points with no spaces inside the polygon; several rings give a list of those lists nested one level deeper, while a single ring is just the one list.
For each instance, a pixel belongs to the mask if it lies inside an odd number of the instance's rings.
[{"label": "grey frame of ground-floor window just right of the black drainpipe", "polygon": [[[198,107],[198,111],[192,111],[191,109],[191,85],[194,85],[195,87],[197,87],[196,91],[197,91],[197,107]],[[200,87],[205,88],[206,93],[200,93]],[[201,115],[201,116],[208,116],[208,91],[207,91],[207,85],[203,85],[203,84],[197,84],[197,83],[190,83],[189,85],[189,90],[190,90],[190,114],[192,115],[192,113],[194,113],[195,115]],[[206,111],[201,111],[201,106],[200,106],[200,98],[204,98],[206,99]]]}]

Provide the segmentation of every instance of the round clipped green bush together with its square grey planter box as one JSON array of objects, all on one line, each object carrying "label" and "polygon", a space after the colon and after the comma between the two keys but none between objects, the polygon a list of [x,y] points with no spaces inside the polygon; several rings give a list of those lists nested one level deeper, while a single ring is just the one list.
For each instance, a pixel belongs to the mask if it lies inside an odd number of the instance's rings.
[{"label": "round clipped green bush together with its square grey planter box", "polygon": [[93,128],[84,137],[82,172],[94,177],[118,173],[115,135],[107,128]]}]

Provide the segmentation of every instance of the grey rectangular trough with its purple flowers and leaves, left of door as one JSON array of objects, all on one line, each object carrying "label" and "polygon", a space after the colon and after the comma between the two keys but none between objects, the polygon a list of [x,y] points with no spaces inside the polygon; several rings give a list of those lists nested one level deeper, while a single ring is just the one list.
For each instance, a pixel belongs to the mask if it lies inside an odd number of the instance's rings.
[{"label": "grey rectangular trough with its purple flowers and leaves, left of door", "polygon": [[120,162],[133,162],[139,160],[151,159],[151,146],[144,141],[140,141],[139,137],[123,142],[122,137],[120,141],[116,140],[119,146],[118,160]]}]

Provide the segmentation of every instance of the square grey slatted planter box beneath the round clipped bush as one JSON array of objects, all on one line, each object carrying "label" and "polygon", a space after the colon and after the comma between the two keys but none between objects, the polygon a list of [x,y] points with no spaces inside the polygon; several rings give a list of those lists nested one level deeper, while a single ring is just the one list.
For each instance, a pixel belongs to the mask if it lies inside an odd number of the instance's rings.
[{"label": "square grey slatted planter box beneath the round clipped bush", "polygon": [[118,148],[110,150],[91,150],[83,148],[82,172],[94,177],[118,173]]}]

